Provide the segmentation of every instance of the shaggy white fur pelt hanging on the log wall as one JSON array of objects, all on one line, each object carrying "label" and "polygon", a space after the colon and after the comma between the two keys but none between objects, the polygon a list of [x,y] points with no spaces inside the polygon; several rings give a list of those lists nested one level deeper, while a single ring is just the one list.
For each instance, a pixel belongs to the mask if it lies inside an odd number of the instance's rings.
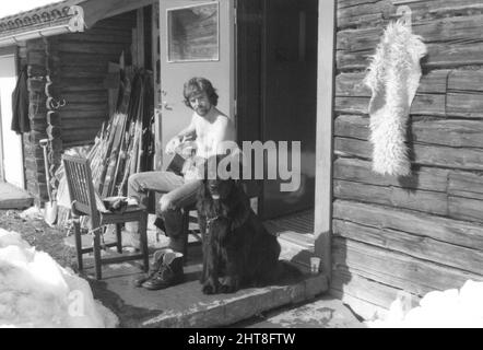
[{"label": "shaggy white fur pelt hanging on the log wall", "polygon": [[425,55],[422,38],[398,21],[388,25],[372,58],[364,82],[373,92],[368,110],[373,170],[377,173],[411,174],[407,124],[420,84],[420,60]]}]

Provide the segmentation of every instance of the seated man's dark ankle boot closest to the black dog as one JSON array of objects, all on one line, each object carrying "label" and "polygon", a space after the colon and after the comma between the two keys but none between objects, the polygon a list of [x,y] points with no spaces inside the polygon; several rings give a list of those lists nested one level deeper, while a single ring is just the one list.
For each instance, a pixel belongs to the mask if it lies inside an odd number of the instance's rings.
[{"label": "seated man's dark ankle boot closest to the black dog", "polygon": [[155,291],[181,283],[184,279],[182,254],[167,252],[163,256],[160,269],[152,278],[142,283],[142,287]]}]

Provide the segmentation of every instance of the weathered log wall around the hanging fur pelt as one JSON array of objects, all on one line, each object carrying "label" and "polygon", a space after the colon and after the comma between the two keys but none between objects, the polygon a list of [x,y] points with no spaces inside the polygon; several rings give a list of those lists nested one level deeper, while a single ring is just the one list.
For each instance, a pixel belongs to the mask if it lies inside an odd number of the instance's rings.
[{"label": "weathered log wall around the hanging fur pelt", "polygon": [[[428,48],[411,108],[413,176],[370,170],[362,84],[398,5]],[[483,280],[483,8],[481,0],[339,0],[332,292],[364,317],[403,290]]]}]

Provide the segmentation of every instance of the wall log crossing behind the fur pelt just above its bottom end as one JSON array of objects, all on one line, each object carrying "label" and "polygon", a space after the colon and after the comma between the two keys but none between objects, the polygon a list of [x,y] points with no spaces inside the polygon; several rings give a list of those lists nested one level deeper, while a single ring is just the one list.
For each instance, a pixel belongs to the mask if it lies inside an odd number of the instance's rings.
[{"label": "wall log crossing behind the fur pelt just above its bottom end", "polygon": [[[337,154],[344,156],[372,158],[372,144],[368,141],[337,137]],[[413,162],[420,165],[452,167],[458,170],[483,170],[483,150],[469,148],[450,148],[444,145],[411,144]]]}]

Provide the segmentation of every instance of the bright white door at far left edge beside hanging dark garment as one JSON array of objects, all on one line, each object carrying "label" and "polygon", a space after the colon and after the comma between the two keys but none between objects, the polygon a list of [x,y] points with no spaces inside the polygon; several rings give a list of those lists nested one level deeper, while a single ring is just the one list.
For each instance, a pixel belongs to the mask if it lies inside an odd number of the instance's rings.
[{"label": "bright white door at far left edge beside hanging dark garment", "polygon": [[11,130],[12,92],[16,84],[16,57],[0,56],[0,179],[25,188],[22,138]]}]

